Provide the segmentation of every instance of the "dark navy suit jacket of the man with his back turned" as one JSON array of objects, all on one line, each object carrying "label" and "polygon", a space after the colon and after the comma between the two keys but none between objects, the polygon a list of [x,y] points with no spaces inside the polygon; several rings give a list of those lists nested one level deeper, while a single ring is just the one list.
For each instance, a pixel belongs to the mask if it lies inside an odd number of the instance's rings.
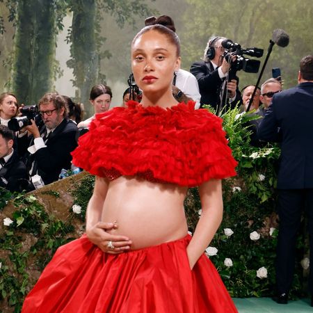
[{"label": "dark navy suit jacket of the man with his back turned", "polygon": [[313,82],[305,82],[275,94],[259,125],[261,140],[281,142],[280,189],[313,188],[312,120]]}]

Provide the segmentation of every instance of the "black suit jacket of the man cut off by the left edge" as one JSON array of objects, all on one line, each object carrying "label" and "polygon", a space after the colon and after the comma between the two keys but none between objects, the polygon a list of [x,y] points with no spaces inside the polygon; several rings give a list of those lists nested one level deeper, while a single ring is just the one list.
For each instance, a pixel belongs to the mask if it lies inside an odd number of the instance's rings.
[{"label": "black suit jacket of the man cut off by the left edge", "polygon": [[27,188],[29,175],[26,165],[19,159],[17,151],[0,169],[0,186],[8,191],[22,191]]}]

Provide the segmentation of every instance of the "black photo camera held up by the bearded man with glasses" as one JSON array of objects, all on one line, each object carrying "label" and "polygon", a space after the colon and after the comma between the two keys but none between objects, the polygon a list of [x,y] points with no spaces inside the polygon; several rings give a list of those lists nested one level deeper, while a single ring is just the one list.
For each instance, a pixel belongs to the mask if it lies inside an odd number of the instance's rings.
[{"label": "black photo camera held up by the bearded man with glasses", "polygon": [[40,127],[42,118],[38,110],[38,106],[23,106],[20,110],[22,116],[17,118],[11,118],[8,122],[8,128],[13,131],[19,131],[27,125],[31,125],[31,120],[35,121],[35,124]]}]

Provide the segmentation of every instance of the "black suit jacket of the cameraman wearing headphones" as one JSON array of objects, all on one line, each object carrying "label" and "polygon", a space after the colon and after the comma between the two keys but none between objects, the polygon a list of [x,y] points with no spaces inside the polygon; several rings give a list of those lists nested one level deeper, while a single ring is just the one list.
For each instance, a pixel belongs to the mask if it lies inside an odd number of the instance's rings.
[{"label": "black suit jacket of the cameraman wearing headphones", "polygon": [[[200,61],[191,65],[190,72],[195,76],[199,84],[201,106],[203,104],[209,104],[216,109],[218,104],[220,104],[220,88],[224,80],[220,79],[218,75],[218,67],[214,70],[211,62],[205,63],[204,61]],[[238,77],[236,79],[238,82]],[[232,108],[240,101],[241,94],[237,88],[236,98],[231,103]]]}]

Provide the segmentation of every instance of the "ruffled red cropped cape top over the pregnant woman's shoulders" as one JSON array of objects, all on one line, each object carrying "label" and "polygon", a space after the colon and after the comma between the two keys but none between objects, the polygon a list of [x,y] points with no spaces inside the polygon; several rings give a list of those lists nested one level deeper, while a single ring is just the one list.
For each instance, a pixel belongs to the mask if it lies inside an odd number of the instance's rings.
[{"label": "ruffled red cropped cape top over the pregnant woman's shoulders", "polygon": [[236,175],[221,118],[194,104],[163,109],[129,101],[98,114],[79,138],[73,163],[109,179],[141,176],[182,186]]}]

